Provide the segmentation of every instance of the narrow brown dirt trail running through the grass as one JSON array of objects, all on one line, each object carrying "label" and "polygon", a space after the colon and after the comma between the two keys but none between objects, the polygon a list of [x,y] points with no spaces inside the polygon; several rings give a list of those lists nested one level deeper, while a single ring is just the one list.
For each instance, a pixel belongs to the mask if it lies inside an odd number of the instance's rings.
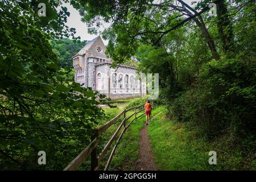
[{"label": "narrow brown dirt trail running through the grass", "polygon": [[[155,116],[160,113],[162,112],[154,114],[154,117],[152,117],[152,122],[154,122]],[[148,124],[150,125],[150,122]],[[139,135],[139,158],[137,162],[134,163],[134,169],[136,171],[157,171],[158,168],[155,166],[155,159],[151,151],[150,139],[147,135],[146,125],[143,126]]]}]

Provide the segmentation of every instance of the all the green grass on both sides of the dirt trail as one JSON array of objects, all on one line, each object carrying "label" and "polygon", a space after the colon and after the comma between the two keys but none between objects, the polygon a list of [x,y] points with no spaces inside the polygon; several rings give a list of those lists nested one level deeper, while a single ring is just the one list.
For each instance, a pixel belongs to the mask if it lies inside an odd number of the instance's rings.
[{"label": "all the green grass on both sides of the dirt trail", "polygon": [[[137,101],[135,101],[137,102]],[[105,118],[99,125],[109,121],[120,113],[120,108],[104,108]],[[155,156],[155,164],[160,170],[255,170],[256,160],[254,151],[246,151],[241,146],[230,146],[228,140],[222,138],[209,141],[200,137],[198,131],[191,123],[174,122],[166,117],[166,107],[159,106],[152,110],[152,115],[156,115],[148,126],[148,136],[152,152]],[[133,111],[129,111],[129,116]],[[138,116],[138,115],[137,115]],[[98,152],[101,152],[106,142],[114,134],[123,117],[117,123],[110,126],[101,135],[101,142]],[[131,121],[131,119],[129,120]],[[129,121],[127,123],[129,123]],[[145,123],[145,116],[136,119],[120,140],[117,150],[113,156],[109,170],[134,170],[134,162],[139,156],[139,131]],[[122,131],[122,129],[121,129]],[[121,133],[121,131],[119,133]],[[118,138],[118,137],[117,137]],[[101,162],[100,169],[108,160],[110,152],[114,146],[113,142],[110,150]],[[217,152],[217,165],[208,163],[209,151]],[[245,156],[246,154],[246,156]],[[249,154],[249,155],[248,155]],[[90,169],[90,158],[80,169]]]}]

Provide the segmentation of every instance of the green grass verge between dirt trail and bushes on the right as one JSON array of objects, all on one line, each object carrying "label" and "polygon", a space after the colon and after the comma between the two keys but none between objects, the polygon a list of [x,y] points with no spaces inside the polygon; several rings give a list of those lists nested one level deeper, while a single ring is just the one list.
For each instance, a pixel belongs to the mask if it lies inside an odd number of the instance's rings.
[{"label": "green grass verge between dirt trail and bushes on the right", "polygon": [[[190,123],[170,121],[164,114],[150,123],[148,135],[160,170],[255,170],[253,152],[243,156],[243,150],[229,146],[225,137],[209,141]],[[209,151],[217,152],[217,165],[208,163]]]}]

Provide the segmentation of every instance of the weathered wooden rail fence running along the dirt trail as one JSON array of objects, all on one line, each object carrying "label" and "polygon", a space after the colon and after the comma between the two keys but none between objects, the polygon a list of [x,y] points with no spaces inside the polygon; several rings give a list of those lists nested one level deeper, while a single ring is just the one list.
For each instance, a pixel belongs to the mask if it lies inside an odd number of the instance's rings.
[{"label": "weathered wooden rail fence running along the dirt trail", "polygon": [[[119,140],[122,138],[123,134],[125,133],[127,128],[131,125],[131,123],[133,123],[133,121],[135,119],[141,117],[144,114],[144,112],[143,112],[141,115],[139,115],[137,117],[137,114],[141,113],[141,111],[144,110],[143,106],[144,106],[144,104],[131,107],[130,109],[124,109],[121,113],[119,113],[117,116],[115,116],[109,122],[105,123],[105,125],[99,127],[98,129],[95,129],[94,134],[92,136],[92,142],[90,142],[90,144],[86,148],[84,148],[84,150],[82,150],[82,152],[79,155],[77,155],[76,158],[73,159],[72,162],[69,163],[67,167],[65,167],[64,171],[77,170],[81,166],[81,164],[83,164],[85,162],[86,158],[88,158],[89,155],[91,156],[91,162],[90,162],[91,170],[98,170],[100,168],[101,160],[106,155],[106,152],[110,149],[111,144],[114,142],[115,138],[117,138],[119,131],[121,131],[121,129],[123,127],[122,133],[119,135],[117,142],[115,143],[115,146],[113,147],[112,152],[110,153],[108,162],[106,163],[106,166],[104,168],[104,170],[107,171],[109,169],[110,162],[113,158],[113,155],[117,148]],[[129,115],[129,117],[127,117],[126,114],[130,110],[134,110],[134,113]],[[112,137],[109,139],[109,141],[106,143],[106,145],[103,148],[103,150],[101,151],[101,153],[97,154],[97,146],[98,146],[98,143],[100,143],[100,140],[98,139],[98,137],[102,133],[104,133],[104,131],[106,131],[110,126],[112,126],[115,122],[117,122],[118,119],[122,117],[122,115],[123,115],[123,120],[120,123],[120,125],[118,126],[117,130],[112,135]],[[134,118],[127,124],[126,122],[133,116],[134,116]]]}]

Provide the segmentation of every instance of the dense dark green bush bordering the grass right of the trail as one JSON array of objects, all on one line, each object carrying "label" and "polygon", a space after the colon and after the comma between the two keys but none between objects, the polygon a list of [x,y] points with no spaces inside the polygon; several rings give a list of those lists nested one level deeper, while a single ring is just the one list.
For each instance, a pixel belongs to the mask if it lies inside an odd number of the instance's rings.
[{"label": "dense dark green bush bordering the grass right of the trail", "polygon": [[[210,61],[201,69],[194,89],[171,106],[172,116],[191,121],[208,137],[230,132],[253,144],[255,138],[256,65],[236,59]],[[248,143],[248,144],[249,144]]]}]

